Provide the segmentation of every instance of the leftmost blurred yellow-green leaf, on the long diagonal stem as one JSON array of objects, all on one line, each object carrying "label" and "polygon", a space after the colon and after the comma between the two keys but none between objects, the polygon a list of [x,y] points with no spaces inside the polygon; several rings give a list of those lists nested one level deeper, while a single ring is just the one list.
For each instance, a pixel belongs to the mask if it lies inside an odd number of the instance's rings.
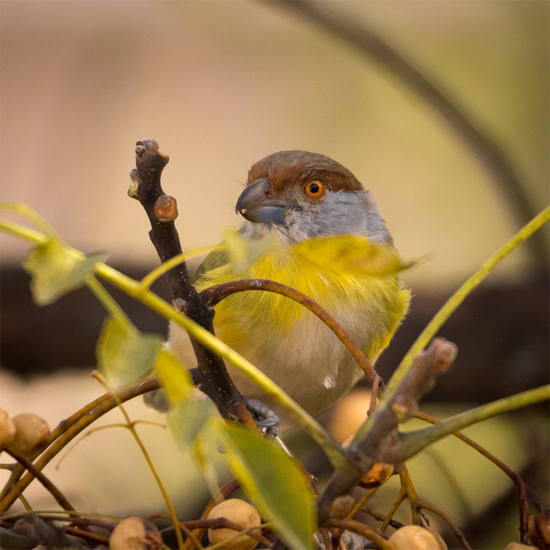
[{"label": "leftmost blurred yellow-green leaf, on the long diagonal stem", "polygon": [[23,268],[32,277],[31,291],[35,303],[40,306],[51,304],[59,296],[83,286],[86,276],[105,257],[105,252],[75,254],[73,249],[54,239],[37,246],[23,263]]}]

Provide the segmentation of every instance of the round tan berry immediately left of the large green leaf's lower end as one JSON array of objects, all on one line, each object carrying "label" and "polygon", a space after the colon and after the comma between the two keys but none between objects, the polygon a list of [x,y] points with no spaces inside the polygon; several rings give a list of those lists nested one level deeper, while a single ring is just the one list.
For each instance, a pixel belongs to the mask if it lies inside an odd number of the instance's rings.
[{"label": "round tan berry immediately left of the large green leaf's lower end", "polygon": [[[260,514],[245,500],[240,498],[229,498],[223,502],[216,504],[210,513],[208,519],[226,518],[229,521],[233,521],[243,527],[252,527],[255,525],[261,525]],[[222,527],[221,529],[208,529],[208,540],[211,544],[217,544],[226,540],[226,538],[237,535],[238,531],[229,529],[228,527]],[[251,550],[258,544],[258,541],[249,535],[239,535],[232,541],[228,541],[222,544],[222,548],[227,550],[233,550],[240,548],[242,550]]]}]

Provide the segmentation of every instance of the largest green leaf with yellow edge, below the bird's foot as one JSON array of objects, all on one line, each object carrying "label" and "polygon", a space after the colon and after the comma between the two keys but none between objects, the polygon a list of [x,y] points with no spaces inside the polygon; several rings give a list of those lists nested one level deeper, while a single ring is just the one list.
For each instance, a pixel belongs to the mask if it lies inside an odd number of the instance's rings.
[{"label": "largest green leaf with yellow edge, below the bird's foot", "polygon": [[231,422],[215,431],[233,474],[289,548],[314,548],[315,495],[303,467],[273,441]]}]

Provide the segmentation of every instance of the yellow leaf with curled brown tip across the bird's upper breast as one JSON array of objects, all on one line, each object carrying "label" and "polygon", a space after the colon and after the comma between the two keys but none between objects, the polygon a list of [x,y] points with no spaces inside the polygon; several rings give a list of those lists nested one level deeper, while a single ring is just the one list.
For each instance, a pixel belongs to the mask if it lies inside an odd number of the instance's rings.
[{"label": "yellow leaf with curled brown tip across the bird's upper breast", "polygon": [[361,235],[313,237],[293,248],[307,262],[355,276],[386,277],[414,264],[401,261],[392,246],[371,242]]}]

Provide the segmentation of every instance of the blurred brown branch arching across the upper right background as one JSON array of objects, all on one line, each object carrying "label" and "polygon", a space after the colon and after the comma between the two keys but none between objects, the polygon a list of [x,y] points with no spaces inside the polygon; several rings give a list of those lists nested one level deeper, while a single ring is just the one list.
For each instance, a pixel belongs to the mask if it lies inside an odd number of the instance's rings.
[{"label": "blurred brown branch arching across the upper right background", "polygon": [[[491,136],[484,133],[475,120],[458,107],[449,92],[421,72],[405,56],[394,50],[387,42],[356,21],[331,13],[330,2],[314,0],[259,0],[271,8],[292,9],[296,14],[320,26],[324,31],[346,42],[349,46],[381,65],[415,92],[449,124],[464,141],[477,159],[486,167],[494,182],[502,190],[510,204],[510,212],[516,216],[518,229],[538,214],[531,204],[525,186],[505,155]],[[533,262],[540,269],[548,266],[548,243],[544,232],[537,232],[527,241]]]}]

